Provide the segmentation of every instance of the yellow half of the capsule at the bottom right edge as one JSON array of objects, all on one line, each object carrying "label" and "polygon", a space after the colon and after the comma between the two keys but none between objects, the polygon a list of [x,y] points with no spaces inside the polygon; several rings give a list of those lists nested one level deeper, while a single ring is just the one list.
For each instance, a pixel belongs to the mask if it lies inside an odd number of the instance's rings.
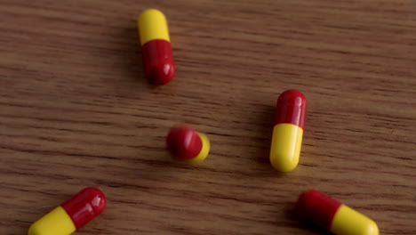
[{"label": "yellow half of the capsule at the bottom right edge", "polygon": [[345,205],[333,217],[331,231],[342,235],[379,235],[379,227],[372,219]]}]

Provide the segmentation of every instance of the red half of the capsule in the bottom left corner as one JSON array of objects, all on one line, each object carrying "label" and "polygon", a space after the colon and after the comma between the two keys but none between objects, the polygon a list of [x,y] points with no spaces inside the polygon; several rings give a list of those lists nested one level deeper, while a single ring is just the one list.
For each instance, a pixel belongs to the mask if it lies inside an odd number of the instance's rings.
[{"label": "red half of the capsule in the bottom left corner", "polygon": [[106,197],[101,190],[89,187],[78,192],[60,207],[68,213],[78,230],[102,213],[106,207]]}]

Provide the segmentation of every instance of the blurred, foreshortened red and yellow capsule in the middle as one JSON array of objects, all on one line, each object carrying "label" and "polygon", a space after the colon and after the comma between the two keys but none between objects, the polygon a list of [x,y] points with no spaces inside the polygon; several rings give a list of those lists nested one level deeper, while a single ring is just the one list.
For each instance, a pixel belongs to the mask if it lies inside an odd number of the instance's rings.
[{"label": "blurred, foreshortened red and yellow capsule in the middle", "polygon": [[206,135],[187,125],[172,127],[166,143],[175,158],[189,162],[203,161],[210,151],[210,141]]}]

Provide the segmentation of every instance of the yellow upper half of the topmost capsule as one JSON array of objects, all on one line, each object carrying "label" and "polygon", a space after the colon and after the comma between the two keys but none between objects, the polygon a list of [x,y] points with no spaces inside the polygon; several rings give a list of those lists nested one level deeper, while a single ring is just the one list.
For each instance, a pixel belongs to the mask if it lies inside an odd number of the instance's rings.
[{"label": "yellow upper half of the topmost capsule", "polygon": [[148,9],[140,14],[137,24],[140,32],[141,45],[155,39],[164,39],[171,42],[164,13],[156,9]]}]

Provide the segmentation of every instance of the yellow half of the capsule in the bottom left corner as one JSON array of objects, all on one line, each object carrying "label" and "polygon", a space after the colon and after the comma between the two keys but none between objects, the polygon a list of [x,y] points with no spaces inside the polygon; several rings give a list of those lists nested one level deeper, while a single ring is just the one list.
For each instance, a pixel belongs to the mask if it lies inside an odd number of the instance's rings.
[{"label": "yellow half of the capsule in the bottom left corner", "polygon": [[71,217],[62,207],[56,207],[30,226],[28,235],[69,235],[76,231]]}]

